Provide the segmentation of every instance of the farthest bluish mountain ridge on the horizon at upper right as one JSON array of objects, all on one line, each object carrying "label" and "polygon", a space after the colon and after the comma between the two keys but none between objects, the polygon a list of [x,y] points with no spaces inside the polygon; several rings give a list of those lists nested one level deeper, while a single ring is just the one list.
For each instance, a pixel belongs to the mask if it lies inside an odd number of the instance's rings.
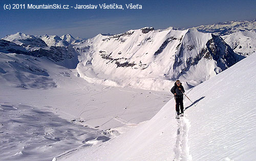
[{"label": "farthest bluish mountain ridge on the horizon at upper right", "polygon": [[217,35],[227,35],[240,31],[256,31],[256,19],[252,21],[227,21],[219,22],[214,25],[201,25],[191,28],[200,32],[213,33]]}]

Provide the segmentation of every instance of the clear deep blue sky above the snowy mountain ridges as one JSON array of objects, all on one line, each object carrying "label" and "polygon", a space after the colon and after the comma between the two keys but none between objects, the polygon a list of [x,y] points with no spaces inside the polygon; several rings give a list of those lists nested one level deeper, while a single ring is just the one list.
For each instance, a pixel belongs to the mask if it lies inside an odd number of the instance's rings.
[{"label": "clear deep blue sky above the snowy mountain ridges", "polygon": [[[124,10],[4,10],[4,4],[61,4],[76,6],[120,4]],[[127,10],[125,4],[140,4],[141,10]],[[63,35],[88,38],[98,33],[118,34],[131,29],[154,27],[190,28],[220,21],[253,20],[256,18],[256,1],[0,1],[0,37],[22,32],[31,35]],[[99,8],[99,6],[98,6]]]}]

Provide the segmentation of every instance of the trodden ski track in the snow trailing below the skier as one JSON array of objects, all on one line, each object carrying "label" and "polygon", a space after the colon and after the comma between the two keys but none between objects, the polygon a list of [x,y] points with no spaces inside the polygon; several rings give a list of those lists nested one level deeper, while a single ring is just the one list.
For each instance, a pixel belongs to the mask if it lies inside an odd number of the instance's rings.
[{"label": "trodden ski track in the snow trailing below the skier", "polygon": [[185,117],[177,120],[178,129],[177,129],[177,141],[174,148],[175,157],[174,161],[181,160],[192,160],[192,156],[189,154],[189,146],[188,146],[188,131],[190,128],[190,122]]}]

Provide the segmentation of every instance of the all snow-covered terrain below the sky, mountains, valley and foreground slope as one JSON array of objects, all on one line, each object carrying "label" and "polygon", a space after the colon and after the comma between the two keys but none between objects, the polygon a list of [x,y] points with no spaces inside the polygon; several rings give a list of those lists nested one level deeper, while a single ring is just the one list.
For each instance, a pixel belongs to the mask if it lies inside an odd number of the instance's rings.
[{"label": "all snow-covered terrain below the sky, mountains, valley and foreground slope", "polygon": [[[1,160],[253,160],[253,24],[208,26],[235,32],[216,43],[210,33],[148,27],[84,41],[7,35],[0,45]],[[248,57],[228,62],[235,54],[226,42]],[[206,50],[218,45],[216,60]],[[180,120],[169,93],[176,79],[196,105],[184,98]]]}]

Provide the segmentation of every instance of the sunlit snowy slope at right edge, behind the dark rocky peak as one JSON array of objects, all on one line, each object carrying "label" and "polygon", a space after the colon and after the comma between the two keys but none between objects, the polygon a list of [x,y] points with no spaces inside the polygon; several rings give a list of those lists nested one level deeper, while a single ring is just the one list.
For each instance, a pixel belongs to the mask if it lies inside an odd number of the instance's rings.
[{"label": "sunlit snowy slope at right edge, behind the dark rocky peak", "polygon": [[248,56],[256,52],[256,32],[254,31],[236,32],[222,38],[238,54]]}]

